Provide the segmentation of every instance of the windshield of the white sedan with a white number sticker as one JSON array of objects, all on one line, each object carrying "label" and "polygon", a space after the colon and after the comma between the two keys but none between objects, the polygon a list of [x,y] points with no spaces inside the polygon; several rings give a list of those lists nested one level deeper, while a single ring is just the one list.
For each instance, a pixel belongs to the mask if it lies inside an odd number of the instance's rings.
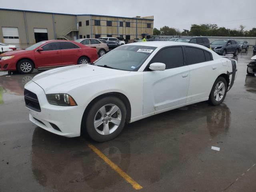
[{"label": "windshield of the white sedan with a white number sticker", "polygon": [[119,46],[100,57],[96,66],[105,66],[118,70],[137,71],[156,47],[127,45]]}]

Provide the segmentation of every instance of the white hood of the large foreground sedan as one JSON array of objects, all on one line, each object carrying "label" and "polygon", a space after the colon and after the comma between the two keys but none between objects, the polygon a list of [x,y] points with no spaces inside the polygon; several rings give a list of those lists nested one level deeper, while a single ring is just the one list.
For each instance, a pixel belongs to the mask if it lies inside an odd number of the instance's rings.
[{"label": "white hood of the large foreground sedan", "polygon": [[42,72],[34,76],[32,81],[38,84],[46,94],[50,94],[60,93],[61,91],[68,92],[68,90],[72,89],[78,84],[87,84],[106,78],[113,78],[114,76],[129,72],[130,71],[82,64],[55,68]]}]

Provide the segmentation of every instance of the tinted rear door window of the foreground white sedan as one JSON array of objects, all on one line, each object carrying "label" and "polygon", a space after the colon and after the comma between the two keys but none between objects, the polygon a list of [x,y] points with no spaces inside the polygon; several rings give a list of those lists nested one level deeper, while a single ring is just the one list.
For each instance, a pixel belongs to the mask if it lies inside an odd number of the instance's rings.
[{"label": "tinted rear door window of the foreground white sedan", "polygon": [[205,62],[204,51],[194,47],[185,47],[188,65]]}]

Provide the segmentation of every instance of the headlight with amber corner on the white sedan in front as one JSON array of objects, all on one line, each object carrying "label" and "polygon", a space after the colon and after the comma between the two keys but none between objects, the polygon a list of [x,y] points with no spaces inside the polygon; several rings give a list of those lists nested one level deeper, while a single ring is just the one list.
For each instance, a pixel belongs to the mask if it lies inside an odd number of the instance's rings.
[{"label": "headlight with amber corner on the white sedan in front", "polygon": [[66,93],[47,94],[46,98],[49,104],[58,106],[77,106],[75,100]]}]

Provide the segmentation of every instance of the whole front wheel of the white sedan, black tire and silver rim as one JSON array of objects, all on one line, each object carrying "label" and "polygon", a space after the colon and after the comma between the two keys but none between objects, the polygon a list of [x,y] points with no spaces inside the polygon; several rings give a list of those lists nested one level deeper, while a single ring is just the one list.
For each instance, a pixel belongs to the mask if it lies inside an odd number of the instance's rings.
[{"label": "whole front wheel of the white sedan, black tire and silver rim", "polygon": [[[112,108],[116,112],[108,114]],[[86,116],[85,129],[90,138],[98,142],[104,142],[118,136],[124,128],[125,122],[126,106],[119,98],[108,96],[92,105]]]}]

